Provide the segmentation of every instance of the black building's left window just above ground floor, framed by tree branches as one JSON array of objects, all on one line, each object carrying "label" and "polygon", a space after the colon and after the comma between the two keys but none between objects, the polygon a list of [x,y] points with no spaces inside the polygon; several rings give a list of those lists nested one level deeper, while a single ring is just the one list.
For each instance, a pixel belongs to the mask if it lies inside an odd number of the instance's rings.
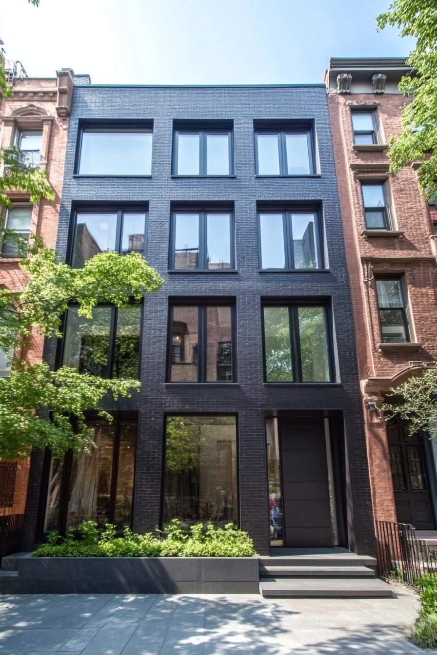
[{"label": "black building's left window just above ground floor, framed by tree branches", "polygon": [[62,339],[62,365],[100,377],[138,378],[141,305],[100,305],[92,318],[69,307]]}]

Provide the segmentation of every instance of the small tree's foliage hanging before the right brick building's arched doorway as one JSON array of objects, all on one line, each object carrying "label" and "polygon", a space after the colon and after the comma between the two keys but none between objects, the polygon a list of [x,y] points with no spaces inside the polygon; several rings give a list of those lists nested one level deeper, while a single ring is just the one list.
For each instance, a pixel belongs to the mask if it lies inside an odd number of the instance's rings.
[{"label": "small tree's foliage hanging before the right brick building's arched doorway", "polygon": [[408,422],[409,434],[426,430],[430,436],[437,437],[436,369],[425,369],[423,375],[410,377],[391,391],[402,402],[383,405],[387,417],[398,415]]}]

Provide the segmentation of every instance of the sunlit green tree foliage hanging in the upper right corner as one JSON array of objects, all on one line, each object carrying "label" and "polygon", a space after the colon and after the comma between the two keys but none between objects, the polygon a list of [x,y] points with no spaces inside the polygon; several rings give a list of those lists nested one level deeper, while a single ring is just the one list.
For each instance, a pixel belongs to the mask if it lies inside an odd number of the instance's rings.
[{"label": "sunlit green tree foliage hanging in the upper right corner", "polygon": [[413,98],[402,110],[402,134],[390,140],[390,172],[419,160],[419,185],[426,198],[437,192],[437,4],[435,0],[394,0],[377,16],[379,29],[397,26],[401,36],[417,39],[407,65],[413,73],[399,88]]}]

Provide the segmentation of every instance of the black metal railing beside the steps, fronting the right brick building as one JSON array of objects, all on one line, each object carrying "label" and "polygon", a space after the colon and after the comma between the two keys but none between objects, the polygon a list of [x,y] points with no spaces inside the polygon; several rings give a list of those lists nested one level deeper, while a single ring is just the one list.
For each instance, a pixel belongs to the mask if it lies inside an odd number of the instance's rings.
[{"label": "black metal railing beside the steps, fronting the right brick building", "polygon": [[417,578],[437,572],[434,552],[416,537],[414,527],[408,523],[375,521],[375,525],[381,578],[421,589]]}]

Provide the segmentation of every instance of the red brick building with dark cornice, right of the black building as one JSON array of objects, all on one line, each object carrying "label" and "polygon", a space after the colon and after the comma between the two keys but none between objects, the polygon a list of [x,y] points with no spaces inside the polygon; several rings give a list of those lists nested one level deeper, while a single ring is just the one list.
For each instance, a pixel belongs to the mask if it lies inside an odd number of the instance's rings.
[{"label": "red brick building with dark cornice, right of the black building", "polygon": [[[437,528],[436,446],[385,423],[390,389],[437,360],[435,206],[414,166],[389,174],[409,102],[405,60],[331,59],[326,89],[358,352],[375,519]],[[434,219],[433,219],[434,217]]]}]

